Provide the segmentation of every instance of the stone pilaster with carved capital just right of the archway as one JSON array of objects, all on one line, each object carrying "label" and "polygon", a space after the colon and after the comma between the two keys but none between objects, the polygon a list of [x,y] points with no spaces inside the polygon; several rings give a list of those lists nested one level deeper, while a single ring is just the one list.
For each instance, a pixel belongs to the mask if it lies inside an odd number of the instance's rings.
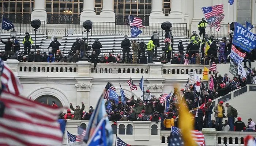
[{"label": "stone pilaster with carved capital just right of the archway", "polygon": [[90,83],[76,83],[76,98],[77,104],[80,105],[82,102],[84,103],[85,110],[88,110],[90,105],[90,88],[92,84]]}]

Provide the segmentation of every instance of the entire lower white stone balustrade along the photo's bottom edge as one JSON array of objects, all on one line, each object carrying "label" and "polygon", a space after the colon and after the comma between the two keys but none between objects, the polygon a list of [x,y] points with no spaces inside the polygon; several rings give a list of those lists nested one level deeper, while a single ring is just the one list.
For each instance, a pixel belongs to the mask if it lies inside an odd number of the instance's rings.
[{"label": "entire lower white stone balustrade along the photo's bottom edge", "polygon": [[[77,134],[77,126],[87,127],[89,121],[67,120],[65,132]],[[129,145],[167,146],[170,131],[160,131],[160,123],[147,121],[124,122],[118,121],[117,125],[110,122],[113,128],[113,145],[115,145],[116,134]],[[215,131],[214,128],[203,128],[202,130],[207,146],[243,146],[247,135],[256,137],[255,132],[225,132]],[[63,138],[63,145],[67,145],[67,135]]]}]

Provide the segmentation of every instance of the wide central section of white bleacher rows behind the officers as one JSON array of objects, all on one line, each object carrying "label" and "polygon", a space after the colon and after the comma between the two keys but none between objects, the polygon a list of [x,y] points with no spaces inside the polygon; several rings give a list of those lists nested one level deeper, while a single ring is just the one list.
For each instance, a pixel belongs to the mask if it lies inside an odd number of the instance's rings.
[{"label": "wide central section of white bleacher rows behind the officers", "polygon": [[[61,41],[61,50],[64,55],[67,55],[68,52],[71,50],[71,46],[73,43],[76,41],[76,38],[82,38],[82,35],[67,35],[62,38]],[[117,55],[122,53],[121,49],[121,42],[124,39],[123,35],[88,35],[88,45],[91,46],[94,43],[95,38],[99,39],[99,42],[101,42],[103,48],[101,49],[101,54],[100,56],[103,56],[104,53],[114,53],[114,55]],[[141,39],[144,39],[145,43],[148,43],[150,40],[151,36],[138,36],[137,38],[131,38],[131,36],[128,36],[128,39],[130,41],[136,39],[137,42],[139,43]],[[165,37],[164,36],[159,36],[160,39],[160,48],[158,48],[158,56],[157,58],[161,57],[162,53],[162,47],[165,47],[165,43],[163,42]],[[179,40],[183,41],[184,49],[186,50],[187,45],[189,43],[189,38],[187,37],[174,37],[174,53],[178,52],[178,41]],[[89,51],[91,53],[92,49]],[[131,47],[131,53],[132,53],[132,47]],[[131,54],[130,53],[130,54]],[[147,54],[147,53],[146,53]]]}]

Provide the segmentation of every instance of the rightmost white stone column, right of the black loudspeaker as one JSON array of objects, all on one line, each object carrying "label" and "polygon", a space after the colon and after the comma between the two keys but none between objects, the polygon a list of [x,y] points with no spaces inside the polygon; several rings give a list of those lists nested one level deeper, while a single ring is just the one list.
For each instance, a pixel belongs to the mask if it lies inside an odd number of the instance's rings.
[{"label": "rightmost white stone column, right of the black loudspeaker", "polygon": [[182,12],[182,0],[172,0],[169,18],[174,23],[184,23],[184,12]]}]

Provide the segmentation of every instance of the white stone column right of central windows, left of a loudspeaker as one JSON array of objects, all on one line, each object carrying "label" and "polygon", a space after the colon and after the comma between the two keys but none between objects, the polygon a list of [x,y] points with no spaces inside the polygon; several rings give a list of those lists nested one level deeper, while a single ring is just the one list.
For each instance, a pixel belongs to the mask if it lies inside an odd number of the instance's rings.
[{"label": "white stone column right of central windows, left of a loudspeaker", "polygon": [[152,11],[149,15],[150,23],[163,22],[165,15],[163,14],[163,0],[152,0]]}]

